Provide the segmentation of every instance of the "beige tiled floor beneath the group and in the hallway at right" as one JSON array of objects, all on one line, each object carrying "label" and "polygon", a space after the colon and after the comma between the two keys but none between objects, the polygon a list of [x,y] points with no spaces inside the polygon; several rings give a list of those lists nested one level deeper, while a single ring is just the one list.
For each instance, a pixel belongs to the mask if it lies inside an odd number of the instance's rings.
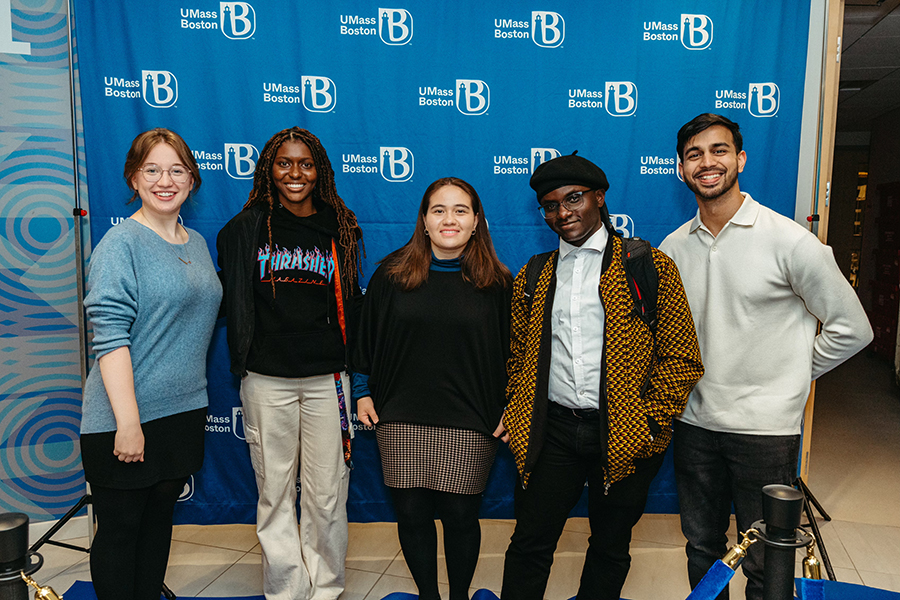
[{"label": "beige tiled floor beneath the group and in the hallway at right", "polygon": [[[900,592],[900,392],[887,364],[859,356],[822,378],[811,456],[810,487],[834,519],[820,526],[838,580]],[[512,521],[482,522],[473,591],[499,592],[503,553],[512,529]],[[570,519],[556,553],[547,598],[574,596],[587,538],[586,519]],[[176,527],[174,539],[166,582],[179,596],[262,593],[252,525],[182,525]],[[58,592],[75,580],[90,579],[84,555],[49,546],[42,553],[48,566],[38,579]],[[677,515],[645,515],[634,531],[631,554],[623,597],[683,600],[688,595],[684,538]],[[441,593],[446,597],[446,571],[441,569]],[[740,573],[731,585],[732,597],[742,598]],[[379,600],[396,591],[416,591],[396,527],[352,524],[342,598]]]}]

